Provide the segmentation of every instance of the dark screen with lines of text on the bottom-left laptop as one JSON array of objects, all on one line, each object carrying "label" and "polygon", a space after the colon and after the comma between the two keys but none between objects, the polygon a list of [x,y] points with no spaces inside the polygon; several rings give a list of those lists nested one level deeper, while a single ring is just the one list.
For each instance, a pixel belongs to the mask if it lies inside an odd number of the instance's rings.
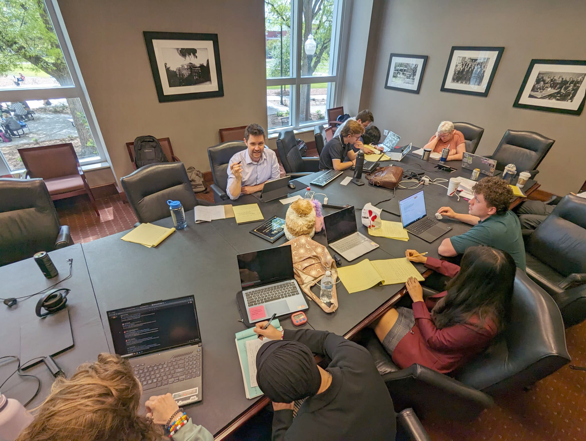
[{"label": "dark screen with lines of text on the bottom-left laptop", "polygon": [[193,296],[108,311],[114,351],[122,357],[199,343]]}]

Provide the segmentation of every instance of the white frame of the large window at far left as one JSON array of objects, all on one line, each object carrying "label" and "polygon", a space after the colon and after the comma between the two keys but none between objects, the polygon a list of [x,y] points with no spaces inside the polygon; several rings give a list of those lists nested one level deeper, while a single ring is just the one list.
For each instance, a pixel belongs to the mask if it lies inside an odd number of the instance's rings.
[{"label": "white frame of the large window at far left", "polygon": [[[59,41],[59,45],[61,46],[61,50],[63,52],[63,57],[65,59],[67,67],[69,68],[69,73],[71,76],[71,81],[73,82],[73,86],[59,86],[47,88],[26,88],[21,86],[19,88],[14,89],[2,89],[2,101],[12,102],[29,100],[49,100],[51,98],[79,98],[81,102],[81,108],[83,108],[83,111],[86,114],[87,124],[90,127],[90,131],[93,135],[94,142],[96,142],[96,149],[98,151],[98,156],[94,156],[92,158],[87,159],[80,159],[80,165],[86,166],[100,162],[108,162],[108,164],[111,164],[110,156],[108,156],[108,152],[104,148],[104,139],[101,135],[100,127],[98,126],[96,114],[94,114],[93,107],[91,107],[91,101],[87,93],[86,84],[84,83],[83,78],[81,77],[79,64],[77,64],[77,60],[73,52],[73,47],[71,46],[71,40],[69,39],[69,35],[67,34],[67,29],[63,21],[63,16],[61,15],[61,11],[59,9],[59,4],[57,3],[57,0],[44,1],[45,6],[47,8],[47,12],[49,13],[49,17],[52,21],[55,35],[57,36],[57,41]],[[25,169],[20,169],[11,172],[8,163],[4,159],[4,155],[0,154],[0,175],[17,175],[18,173],[22,173],[24,171]]]}]

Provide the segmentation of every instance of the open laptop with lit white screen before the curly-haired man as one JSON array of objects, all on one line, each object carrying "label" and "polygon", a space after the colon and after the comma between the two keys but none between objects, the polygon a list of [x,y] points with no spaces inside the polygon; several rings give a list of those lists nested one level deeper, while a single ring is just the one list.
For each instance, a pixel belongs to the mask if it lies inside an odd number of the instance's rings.
[{"label": "open laptop with lit white screen before the curly-haired man", "polygon": [[435,218],[427,216],[423,190],[401,199],[399,201],[399,210],[403,228],[424,241],[431,243],[452,229],[452,227],[442,224]]}]

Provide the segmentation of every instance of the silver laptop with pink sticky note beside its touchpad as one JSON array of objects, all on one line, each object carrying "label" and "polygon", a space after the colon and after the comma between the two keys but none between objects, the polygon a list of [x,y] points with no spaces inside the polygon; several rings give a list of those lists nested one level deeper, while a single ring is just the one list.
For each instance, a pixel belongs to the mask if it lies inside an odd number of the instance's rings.
[{"label": "silver laptop with pink sticky note beside its touchpad", "polygon": [[291,245],[247,252],[237,258],[248,322],[308,309],[295,281]]}]

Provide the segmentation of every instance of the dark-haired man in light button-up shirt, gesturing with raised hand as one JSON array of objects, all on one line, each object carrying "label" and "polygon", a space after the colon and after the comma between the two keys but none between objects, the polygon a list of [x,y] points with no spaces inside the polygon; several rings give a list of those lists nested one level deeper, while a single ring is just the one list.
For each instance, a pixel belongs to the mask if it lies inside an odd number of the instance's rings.
[{"label": "dark-haired man in light button-up shirt, gesturing with raised hand", "polygon": [[260,192],[268,181],[280,175],[277,154],[265,148],[264,129],[249,124],[244,131],[246,150],[236,153],[228,163],[226,194],[236,200],[240,194]]}]

